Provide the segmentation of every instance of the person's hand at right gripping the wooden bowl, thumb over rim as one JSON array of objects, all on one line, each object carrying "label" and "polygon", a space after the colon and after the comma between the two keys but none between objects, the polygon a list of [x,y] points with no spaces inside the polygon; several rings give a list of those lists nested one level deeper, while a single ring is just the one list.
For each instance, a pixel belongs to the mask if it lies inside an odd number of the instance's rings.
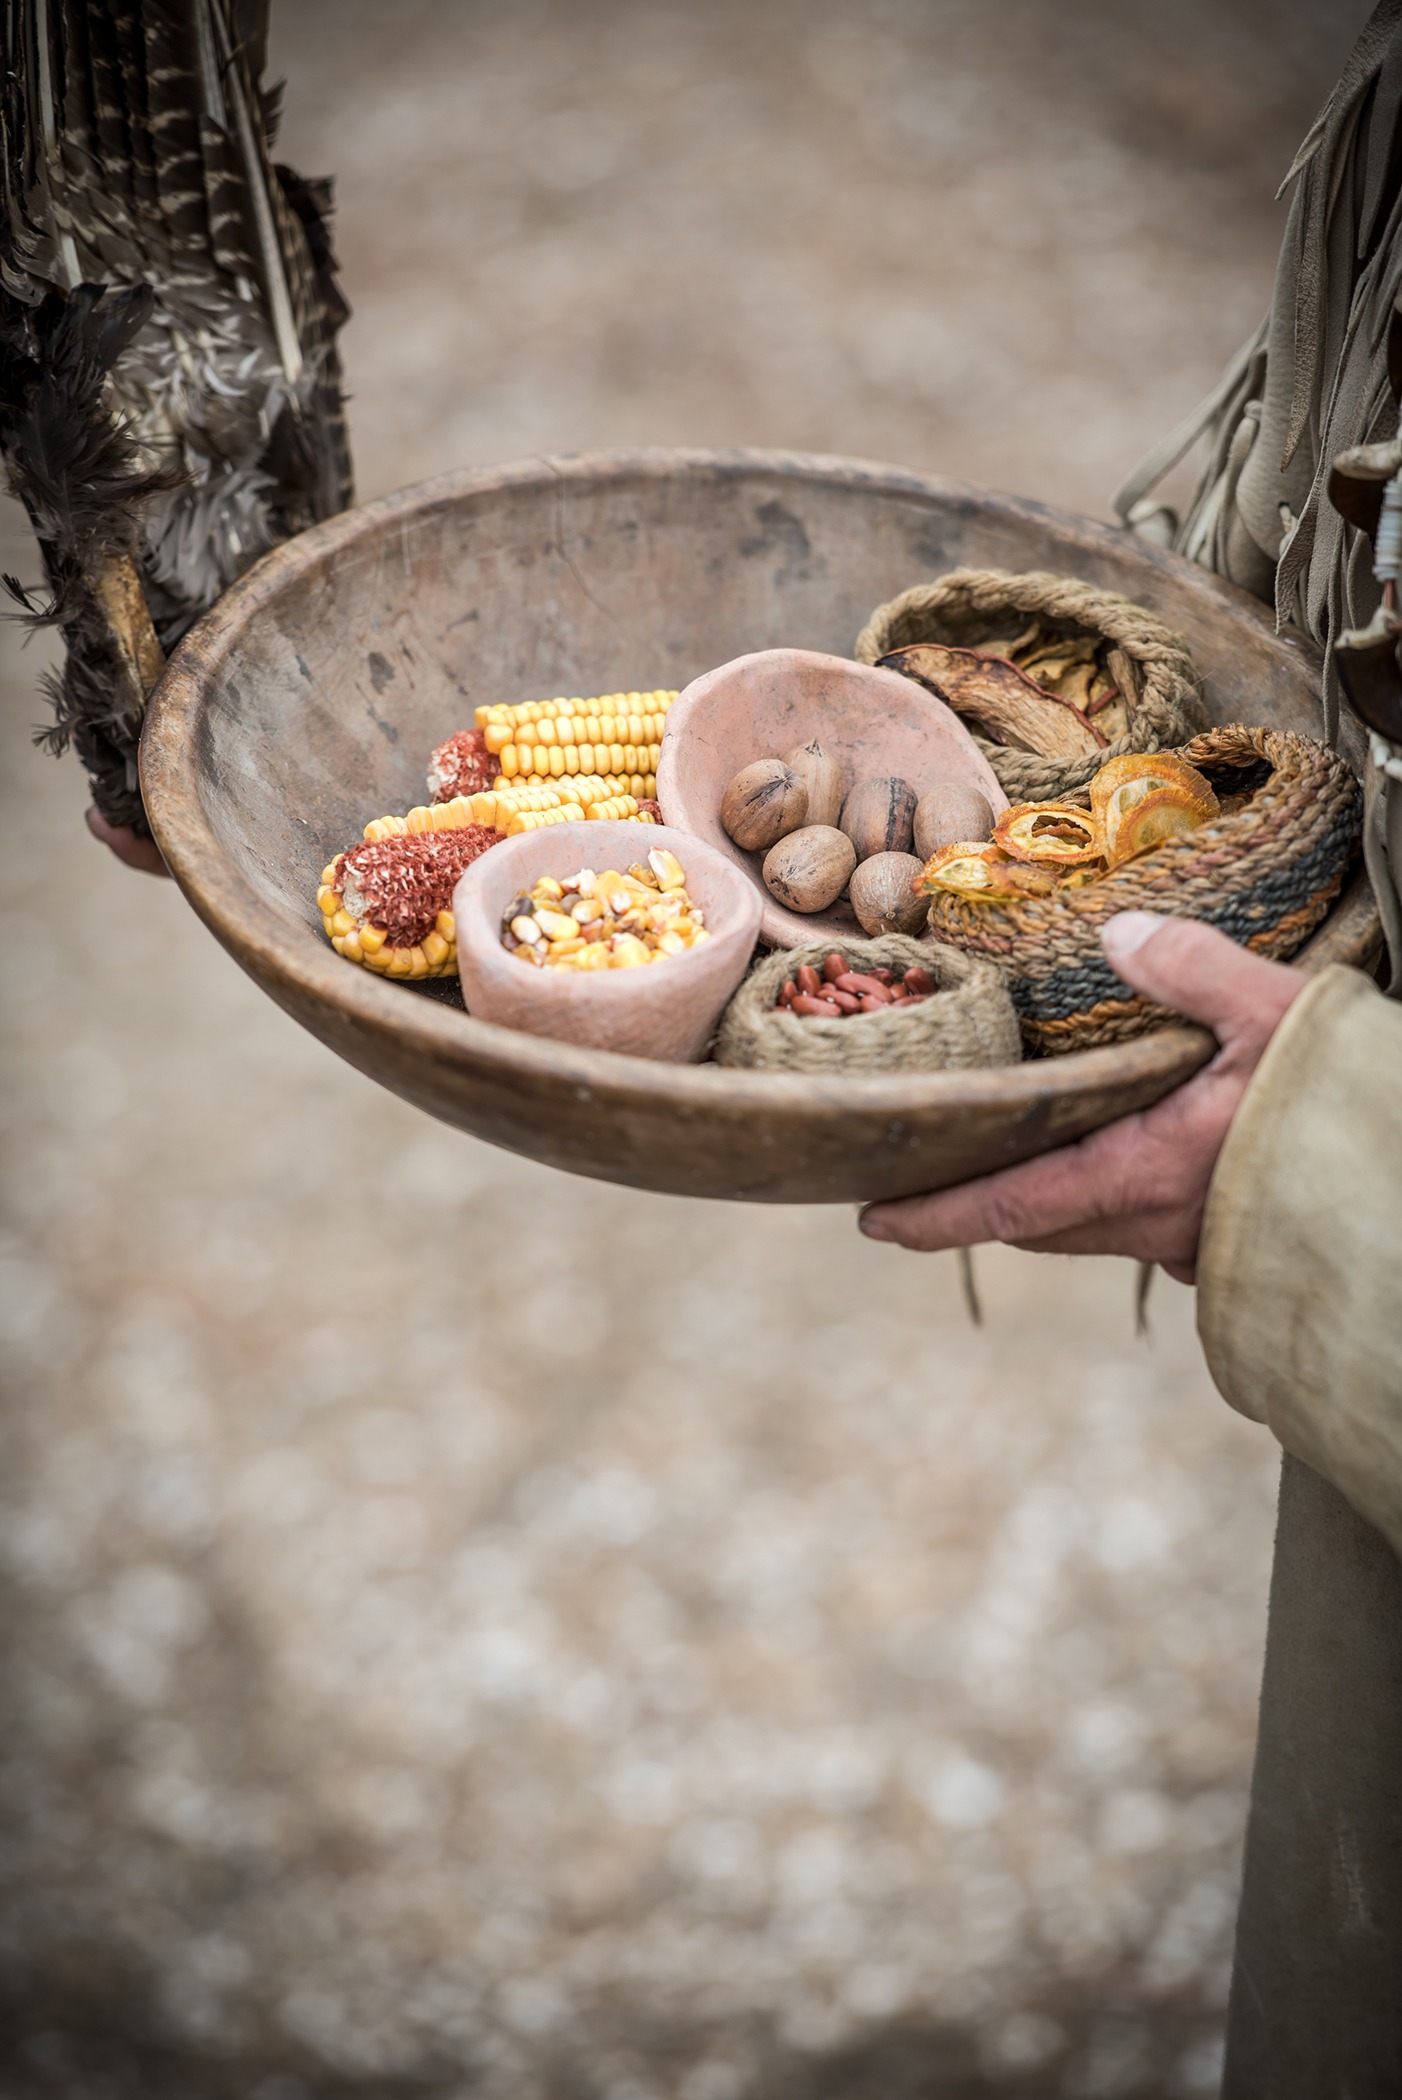
[{"label": "person's hand at right gripping the wooden bowl, thumb over rim", "polygon": [[1119,911],[1102,941],[1117,976],[1213,1031],[1219,1048],[1211,1065],[1152,1109],[1041,1159],[936,1195],[867,1205],[858,1224],[869,1239],[919,1252],[1001,1239],[1035,1254],[1127,1254],[1192,1283],[1217,1153],[1266,1044],[1308,979],[1211,926],[1156,911]]}]

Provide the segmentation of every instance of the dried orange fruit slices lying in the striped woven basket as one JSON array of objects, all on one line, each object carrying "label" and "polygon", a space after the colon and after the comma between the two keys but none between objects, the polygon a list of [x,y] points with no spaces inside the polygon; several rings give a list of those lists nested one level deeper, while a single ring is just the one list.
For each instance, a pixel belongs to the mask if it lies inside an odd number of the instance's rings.
[{"label": "dried orange fruit slices lying in the striped woven basket", "polygon": [[1173,752],[1112,758],[1089,783],[1089,804],[1018,802],[995,825],[932,853],[919,886],[984,901],[1049,897],[1100,882],[1222,813],[1207,779]]}]

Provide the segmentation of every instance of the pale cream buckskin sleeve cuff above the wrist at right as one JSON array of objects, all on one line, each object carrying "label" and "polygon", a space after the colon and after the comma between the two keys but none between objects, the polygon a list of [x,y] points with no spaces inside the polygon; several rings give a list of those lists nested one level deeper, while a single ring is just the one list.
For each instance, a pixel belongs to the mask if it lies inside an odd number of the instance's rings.
[{"label": "pale cream buckskin sleeve cuff above the wrist at right", "polygon": [[1301,991],[1242,1096],[1198,1334],[1224,1399],[1402,1554],[1402,1006],[1358,970]]}]

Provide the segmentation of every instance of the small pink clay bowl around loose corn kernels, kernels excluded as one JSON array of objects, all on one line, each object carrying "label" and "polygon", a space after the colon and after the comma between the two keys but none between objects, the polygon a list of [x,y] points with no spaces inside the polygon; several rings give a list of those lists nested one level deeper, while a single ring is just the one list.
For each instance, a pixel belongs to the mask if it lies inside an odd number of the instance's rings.
[{"label": "small pink clay bowl around loose corn kernels, kernels excluded", "polygon": [[[533,970],[502,947],[502,911],[539,876],[625,869],[670,846],[711,934],[701,947],[636,970]],[[753,884],[724,855],[661,823],[558,823],[508,838],[464,872],[453,892],[458,974],[474,1021],[590,1050],[697,1063],[749,966],[760,934]]]}]

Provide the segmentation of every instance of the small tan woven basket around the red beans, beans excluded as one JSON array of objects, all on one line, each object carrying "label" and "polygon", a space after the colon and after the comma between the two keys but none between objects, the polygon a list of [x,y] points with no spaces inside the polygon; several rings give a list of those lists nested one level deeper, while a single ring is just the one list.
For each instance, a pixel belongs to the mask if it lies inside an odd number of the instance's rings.
[{"label": "small tan woven basket around the red beans, beans excluded", "polygon": [[961,956],[938,941],[890,932],[875,941],[842,943],[854,970],[907,970],[911,964],[926,968],[936,989],[913,1006],[825,1021],[800,1018],[774,1004],[785,979],[804,964],[821,970],[831,951],[831,941],[814,941],[810,947],[779,949],[760,962],[724,1010],[711,1052],[716,1063],[835,1075],[955,1071],[1020,1060],[1018,1016],[1001,972],[978,956]]}]

